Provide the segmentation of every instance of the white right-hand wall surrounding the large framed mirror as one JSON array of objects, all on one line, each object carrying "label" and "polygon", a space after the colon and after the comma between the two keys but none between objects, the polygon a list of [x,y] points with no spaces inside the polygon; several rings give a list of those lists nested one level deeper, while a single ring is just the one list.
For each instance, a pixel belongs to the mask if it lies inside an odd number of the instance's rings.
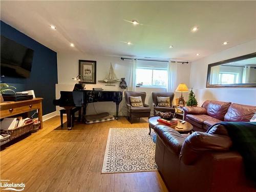
[{"label": "white right-hand wall surrounding the large framed mirror", "polygon": [[236,47],[193,61],[190,70],[190,87],[201,105],[205,100],[230,101],[256,105],[256,88],[206,88],[208,64],[256,52],[256,39]]}]

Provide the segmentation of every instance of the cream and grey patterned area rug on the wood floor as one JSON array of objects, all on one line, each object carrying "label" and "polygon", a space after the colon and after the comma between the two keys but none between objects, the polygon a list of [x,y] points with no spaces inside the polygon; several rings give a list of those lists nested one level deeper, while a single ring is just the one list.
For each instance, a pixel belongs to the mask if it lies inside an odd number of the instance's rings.
[{"label": "cream and grey patterned area rug on the wood floor", "polygon": [[110,128],[101,173],[157,170],[154,142],[148,128]]}]

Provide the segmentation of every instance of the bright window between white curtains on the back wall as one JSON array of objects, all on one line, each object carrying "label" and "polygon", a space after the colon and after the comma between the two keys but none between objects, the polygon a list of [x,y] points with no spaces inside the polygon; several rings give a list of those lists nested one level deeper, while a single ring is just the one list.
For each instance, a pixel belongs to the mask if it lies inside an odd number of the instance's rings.
[{"label": "bright window between white curtains on the back wall", "polygon": [[143,82],[143,86],[166,87],[168,83],[167,62],[137,61],[136,84]]}]

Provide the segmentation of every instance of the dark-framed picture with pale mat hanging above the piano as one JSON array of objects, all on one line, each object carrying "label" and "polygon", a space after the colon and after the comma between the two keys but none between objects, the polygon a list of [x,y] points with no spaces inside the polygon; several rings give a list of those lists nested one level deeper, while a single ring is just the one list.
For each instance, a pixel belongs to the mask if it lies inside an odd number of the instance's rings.
[{"label": "dark-framed picture with pale mat hanging above the piano", "polygon": [[81,83],[96,84],[96,61],[79,60],[79,76]]}]

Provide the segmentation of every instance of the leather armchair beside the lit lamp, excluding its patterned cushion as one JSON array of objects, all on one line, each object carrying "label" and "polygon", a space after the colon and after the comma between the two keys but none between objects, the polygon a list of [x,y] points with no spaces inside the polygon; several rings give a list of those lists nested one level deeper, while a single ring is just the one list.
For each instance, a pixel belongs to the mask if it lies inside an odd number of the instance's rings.
[{"label": "leather armchair beside the lit lamp, excluding its patterned cushion", "polygon": [[[165,107],[165,106],[158,106],[157,103],[157,97],[170,97],[170,108]],[[174,93],[171,92],[152,92],[152,99],[153,99],[153,111],[154,111],[154,116],[156,115],[155,110],[160,111],[160,112],[172,112],[175,113],[175,109],[173,108],[173,99],[174,99]]]}]

